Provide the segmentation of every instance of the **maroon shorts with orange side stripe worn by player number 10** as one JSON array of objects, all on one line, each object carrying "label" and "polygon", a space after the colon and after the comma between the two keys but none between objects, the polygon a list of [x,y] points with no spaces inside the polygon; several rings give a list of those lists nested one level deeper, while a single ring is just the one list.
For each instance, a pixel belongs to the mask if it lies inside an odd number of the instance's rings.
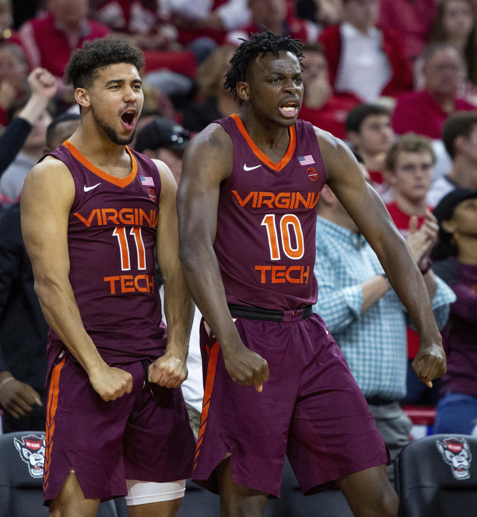
[{"label": "maroon shorts with orange side stripe worn by player number 10", "polygon": [[[233,313],[232,313],[233,314]],[[263,391],[235,384],[220,345],[201,323],[205,389],[192,479],[218,492],[215,467],[231,453],[235,483],[280,495],[285,454],[305,494],[387,464],[388,451],[361,390],[322,318],[237,318],[245,345],[268,362]]]}]

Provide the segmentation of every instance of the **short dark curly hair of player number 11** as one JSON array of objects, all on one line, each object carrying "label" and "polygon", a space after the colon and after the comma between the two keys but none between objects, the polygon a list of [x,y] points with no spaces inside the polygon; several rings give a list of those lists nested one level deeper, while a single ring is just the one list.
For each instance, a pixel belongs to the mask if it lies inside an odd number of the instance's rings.
[{"label": "short dark curly hair of player number 11", "polygon": [[98,68],[116,63],[130,63],[138,70],[144,66],[139,49],[117,38],[98,38],[85,41],[83,48],[75,50],[68,62],[65,83],[76,88],[91,86]]}]

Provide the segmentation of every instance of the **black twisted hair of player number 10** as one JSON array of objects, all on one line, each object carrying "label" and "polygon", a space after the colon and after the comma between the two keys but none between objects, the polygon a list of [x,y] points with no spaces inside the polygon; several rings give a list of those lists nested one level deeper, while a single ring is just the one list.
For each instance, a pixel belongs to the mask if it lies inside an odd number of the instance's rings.
[{"label": "black twisted hair of player number 10", "polygon": [[246,80],[250,65],[259,55],[265,57],[267,53],[271,52],[278,57],[278,53],[285,50],[295,54],[299,62],[303,56],[303,43],[299,39],[277,36],[266,29],[261,33],[252,34],[249,40],[242,41],[230,59],[230,68],[224,82],[224,88],[230,90],[235,98],[237,97],[237,83]]}]

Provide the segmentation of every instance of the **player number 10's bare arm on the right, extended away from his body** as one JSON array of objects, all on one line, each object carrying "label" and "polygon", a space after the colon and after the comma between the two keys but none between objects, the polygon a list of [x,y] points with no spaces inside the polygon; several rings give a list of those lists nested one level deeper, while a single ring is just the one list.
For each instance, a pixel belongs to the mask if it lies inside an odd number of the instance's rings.
[{"label": "player number 10's bare arm on the right, extended away from his body", "polygon": [[351,151],[331,134],[315,128],[327,183],[369,242],[397,296],[419,333],[420,348],[412,368],[428,386],[446,373],[446,355],[426,284],[404,238],[386,207],[366,183]]}]

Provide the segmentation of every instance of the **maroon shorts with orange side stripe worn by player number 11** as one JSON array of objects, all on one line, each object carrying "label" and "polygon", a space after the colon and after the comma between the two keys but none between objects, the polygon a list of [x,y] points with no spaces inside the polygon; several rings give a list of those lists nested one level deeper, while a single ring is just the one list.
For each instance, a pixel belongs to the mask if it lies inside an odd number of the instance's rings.
[{"label": "maroon shorts with orange side stripe worn by player number 11", "polygon": [[74,470],[87,499],[125,495],[126,479],[170,482],[190,477],[195,438],[180,388],[147,380],[146,363],[111,365],[133,376],[133,389],[105,402],[69,352],[46,383],[44,501]]}]

